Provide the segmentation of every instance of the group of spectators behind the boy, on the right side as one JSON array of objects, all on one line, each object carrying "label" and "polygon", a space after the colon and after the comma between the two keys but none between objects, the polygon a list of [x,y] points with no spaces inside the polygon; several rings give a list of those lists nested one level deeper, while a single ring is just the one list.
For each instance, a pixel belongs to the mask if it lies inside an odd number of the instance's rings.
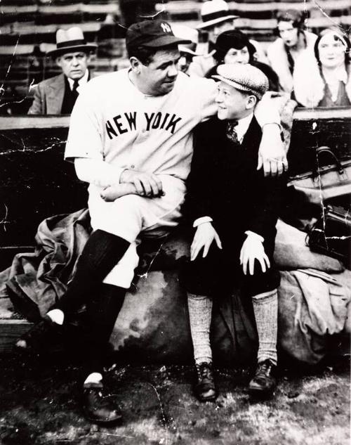
[{"label": "group of spectators behind the boy, on the right side", "polygon": [[[207,4],[213,11],[208,13]],[[258,42],[235,30],[237,17],[229,15],[225,1],[207,1],[203,12],[197,28],[208,32],[208,51],[194,57],[189,75],[212,77],[220,64],[250,63],[267,76],[270,91],[288,93],[300,106],[350,105],[350,40],[340,27],[317,36],[305,29],[300,11],[279,13],[277,39],[267,46],[266,56]],[[208,20],[208,14],[216,18]]]}]

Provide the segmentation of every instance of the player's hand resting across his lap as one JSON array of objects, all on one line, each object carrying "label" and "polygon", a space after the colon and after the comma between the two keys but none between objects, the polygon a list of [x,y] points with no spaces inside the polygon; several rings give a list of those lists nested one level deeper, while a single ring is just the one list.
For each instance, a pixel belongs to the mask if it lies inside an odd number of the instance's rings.
[{"label": "player's hand resting across his lap", "polygon": [[136,170],[124,170],[119,179],[120,183],[133,183],[138,195],[148,198],[158,198],[164,195],[162,182],[156,174],[138,172]]}]

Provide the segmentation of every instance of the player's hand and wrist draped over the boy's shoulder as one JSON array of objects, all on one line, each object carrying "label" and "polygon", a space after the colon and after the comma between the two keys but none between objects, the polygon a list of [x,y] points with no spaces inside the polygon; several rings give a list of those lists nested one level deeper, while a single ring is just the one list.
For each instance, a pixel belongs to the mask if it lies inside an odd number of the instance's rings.
[{"label": "player's hand and wrist draped over the boy's shoulder", "polygon": [[265,176],[280,176],[288,169],[288,160],[277,124],[265,124],[263,127],[257,169],[262,167]]}]

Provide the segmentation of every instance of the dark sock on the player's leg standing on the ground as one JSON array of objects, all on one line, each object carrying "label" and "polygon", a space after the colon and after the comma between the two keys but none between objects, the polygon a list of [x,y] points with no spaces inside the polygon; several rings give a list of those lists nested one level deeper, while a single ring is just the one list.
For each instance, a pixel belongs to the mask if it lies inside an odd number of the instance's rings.
[{"label": "dark sock on the player's leg standing on the ground", "polygon": [[124,302],[126,289],[110,284],[100,285],[86,304],[86,365],[83,377],[101,373],[109,352],[109,340]]}]

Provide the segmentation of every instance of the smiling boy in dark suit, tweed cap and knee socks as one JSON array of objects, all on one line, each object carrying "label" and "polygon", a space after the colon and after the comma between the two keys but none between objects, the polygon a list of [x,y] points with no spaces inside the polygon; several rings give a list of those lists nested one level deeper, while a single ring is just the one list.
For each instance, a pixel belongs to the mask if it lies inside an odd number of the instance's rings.
[{"label": "smiling boy in dark suit, tweed cap and knee socks", "polygon": [[217,116],[199,124],[187,181],[187,208],[196,232],[185,271],[199,400],[216,399],[212,374],[212,301],[240,285],[252,298],[258,365],[249,392],[272,394],[277,367],[277,287],[273,266],[277,209],[285,179],[256,169],[262,130],[253,116],[268,88],[251,65],[226,64],[214,75]]}]

